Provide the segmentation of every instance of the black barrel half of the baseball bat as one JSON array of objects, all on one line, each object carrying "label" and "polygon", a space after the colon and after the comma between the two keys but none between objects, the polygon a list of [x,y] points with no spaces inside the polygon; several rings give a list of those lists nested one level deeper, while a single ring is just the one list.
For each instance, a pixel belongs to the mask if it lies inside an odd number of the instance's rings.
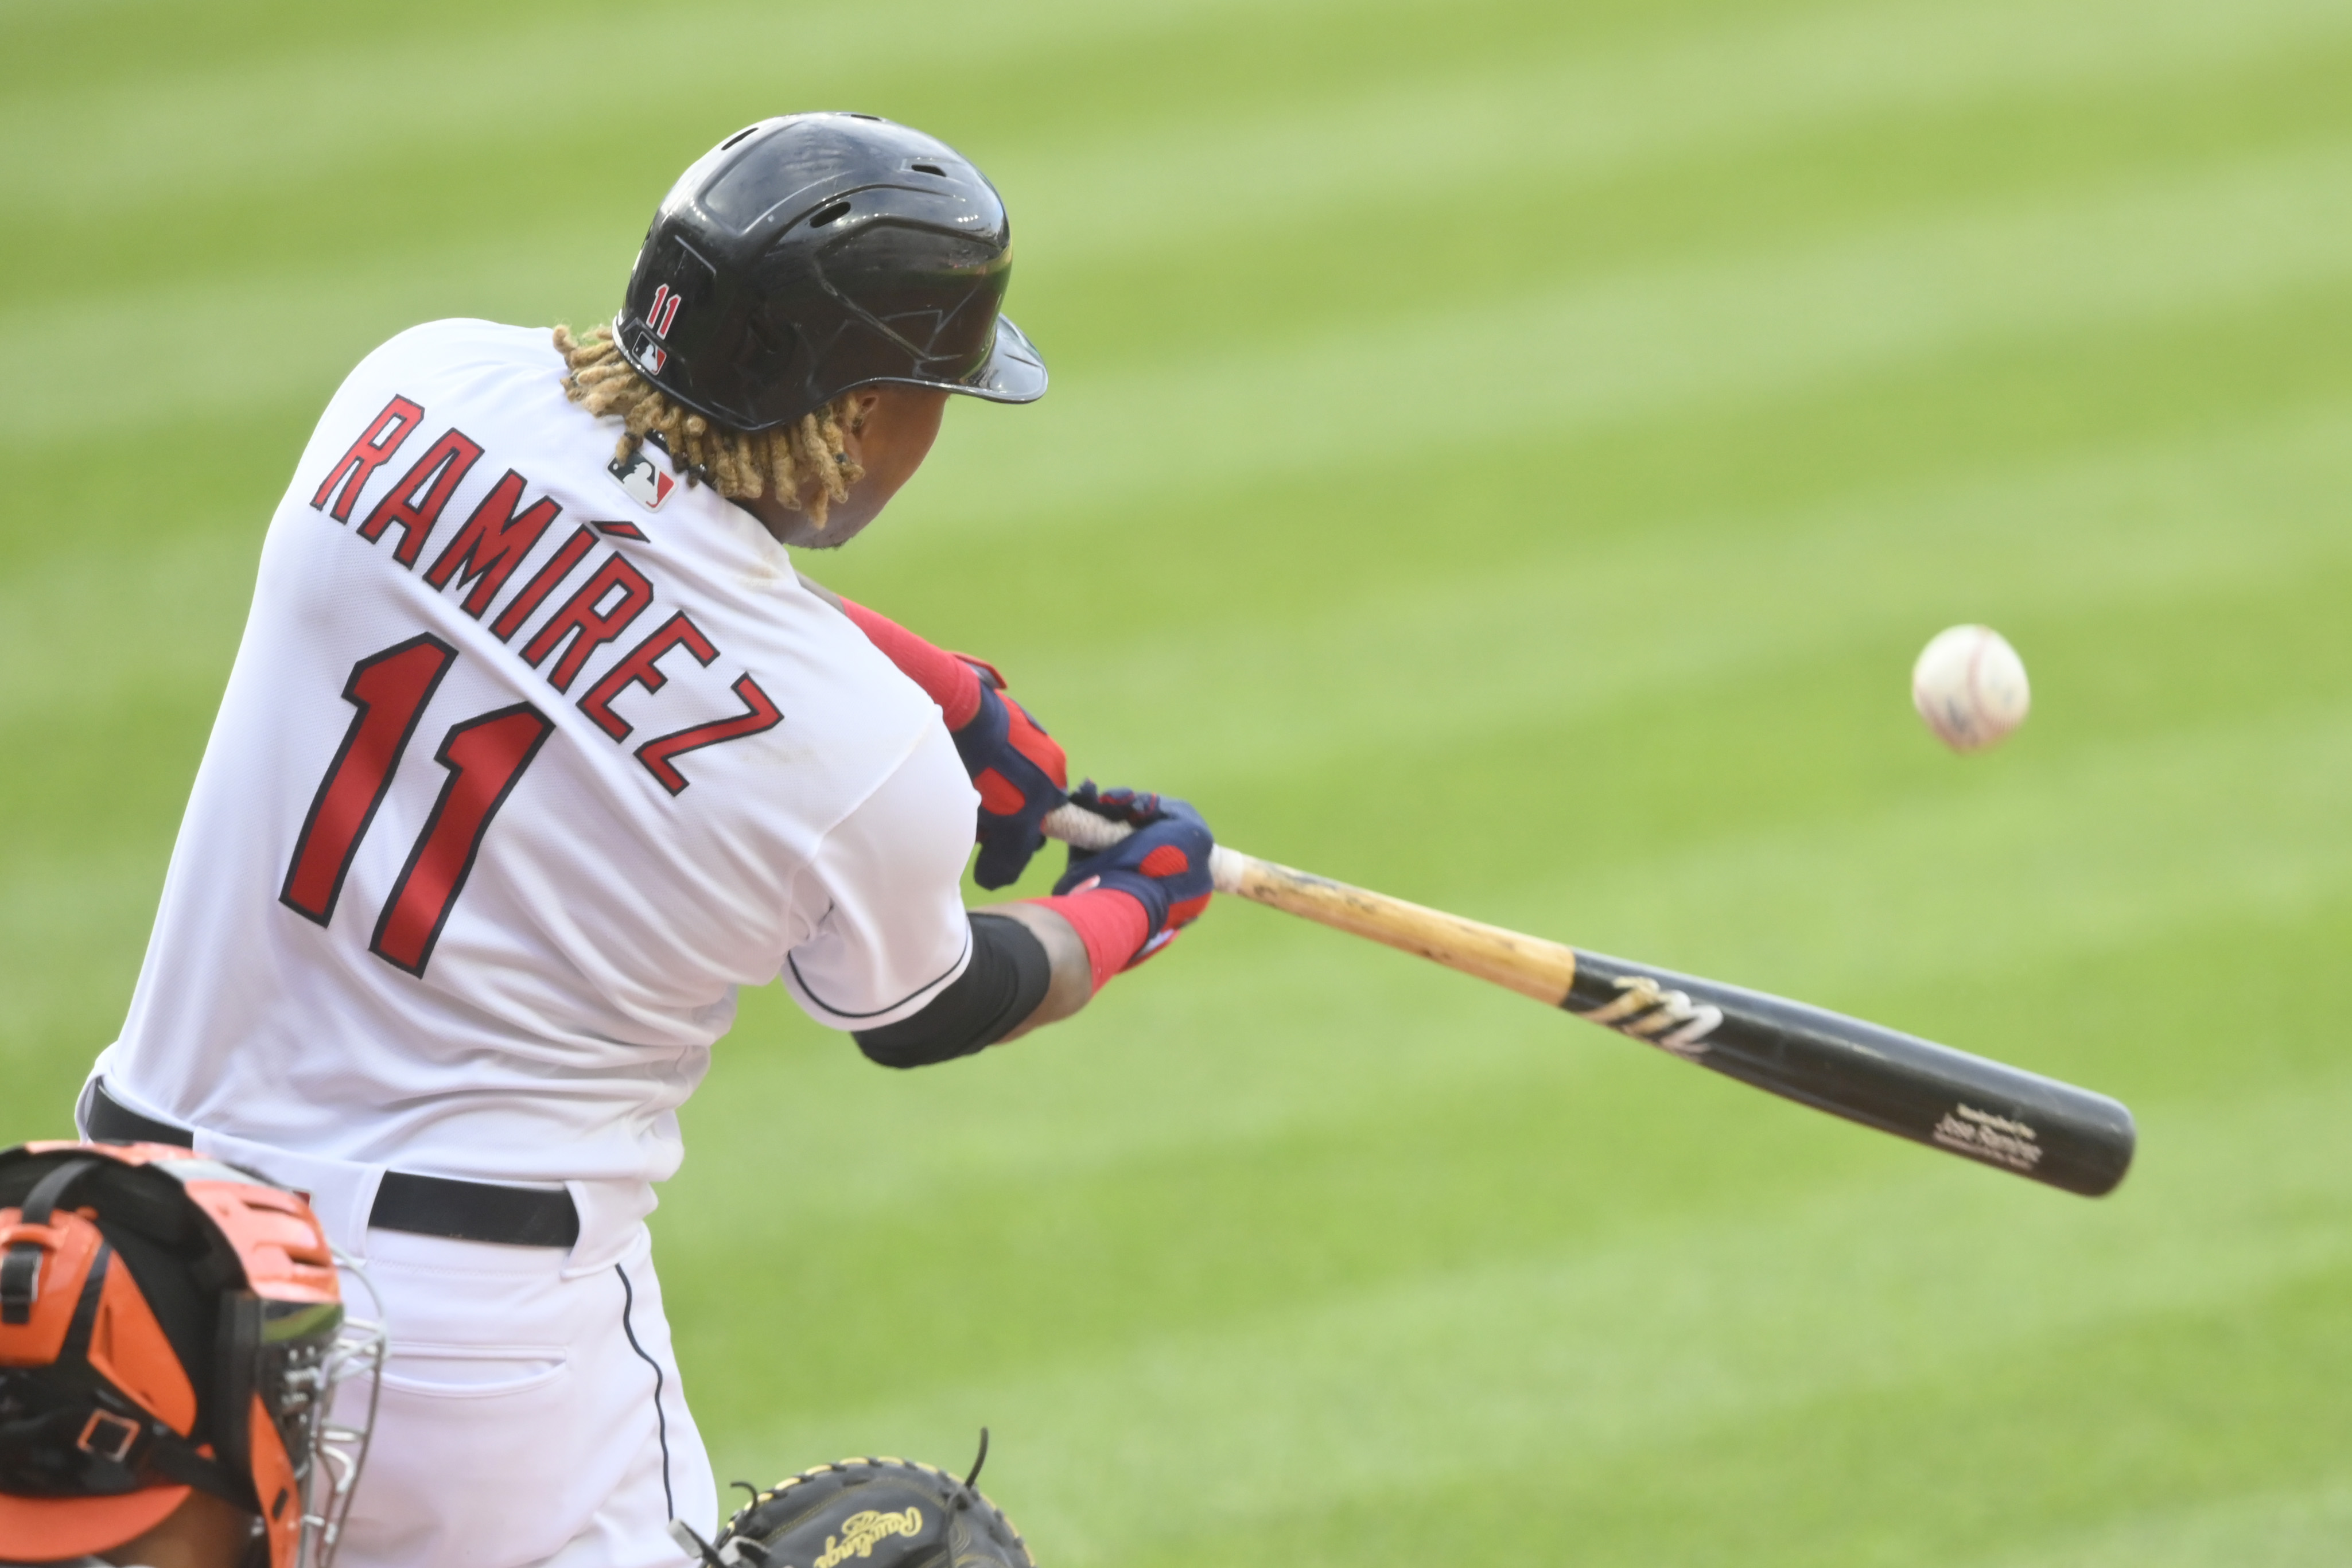
[{"label": "black barrel half of the baseball bat", "polygon": [[2065,1192],[2105,1197],[2131,1168],[2122,1103],[1802,1001],[1578,950],[1559,1006],[1783,1100]]}]

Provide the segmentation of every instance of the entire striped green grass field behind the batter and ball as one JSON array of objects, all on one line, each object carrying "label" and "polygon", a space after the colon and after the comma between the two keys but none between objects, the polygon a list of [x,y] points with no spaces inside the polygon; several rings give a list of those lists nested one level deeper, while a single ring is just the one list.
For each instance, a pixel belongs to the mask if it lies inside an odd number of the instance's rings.
[{"label": "entire striped green grass field behind the batter and ball", "polygon": [[[656,1215],[722,1479],[988,1422],[1049,1568],[2345,1561],[2345,0],[9,0],[0,54],[0,1138],[122,1018],[339,376],[602,320],[696,153],[868,108],[1004,190],[1054,393],[818,576],[1244,849],[2143,1154],[2086,1204],[1235,903],[922,1074],[771,990]],[[1955,621],[2037,691],[1966,762],[1907,705]]]}]

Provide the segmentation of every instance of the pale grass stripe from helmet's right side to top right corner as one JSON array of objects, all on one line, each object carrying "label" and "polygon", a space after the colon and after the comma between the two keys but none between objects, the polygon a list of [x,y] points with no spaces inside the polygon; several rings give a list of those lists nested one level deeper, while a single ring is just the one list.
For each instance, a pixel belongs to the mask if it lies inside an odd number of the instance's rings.
[{"label": "pale grass stripe from helmet's right side to top right corner", "polygon": [[[1023,242],[1042,270],[1167,249],[1249,254],[1374,207],[1409,252],[1421,228],[1475,223],[1503,200],[1573,205],[1585,183],[1682,158],[1769,155],[1771,143],[1962,103],[2225,80],[2352,40],[2314,0],[2246,7],[2009,0],[1837,5],[1658,26],[1592,49],[1498,47],[1446,73],[1399,68],[1348,96],[1284,103],[1202,129],[1007,148],[1009,188],[1035,202]],[[1416,200],[1418,197],[1418,200]]]}]

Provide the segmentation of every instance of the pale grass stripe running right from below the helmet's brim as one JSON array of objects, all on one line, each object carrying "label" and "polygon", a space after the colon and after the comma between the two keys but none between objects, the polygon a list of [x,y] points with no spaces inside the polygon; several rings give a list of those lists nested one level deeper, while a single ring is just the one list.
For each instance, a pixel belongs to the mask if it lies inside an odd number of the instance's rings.
[{"label": "pale grass stripe running right from below the helmet's brim", "polygon": [[[1404,430],[1465,444],[1639,428],[1987,339],[2194,317],[2352,270],[2352,223],[2312,200],[2347,181],[2352,143],[2307,146],[1780,252],[1658,259],[1378,334],[1070,376],[1030,418],[974,421],[983,435],[943,444],[927,480],[960,527],[995,527],[1369,463]],[[1237,388],[1279,388],[1282,418],[1235,418]]]}]

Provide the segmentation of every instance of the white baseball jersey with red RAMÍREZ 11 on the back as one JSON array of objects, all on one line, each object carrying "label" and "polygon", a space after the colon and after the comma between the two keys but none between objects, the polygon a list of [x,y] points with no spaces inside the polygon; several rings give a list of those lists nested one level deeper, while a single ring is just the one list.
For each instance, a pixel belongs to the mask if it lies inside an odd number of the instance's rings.
[{"label": "white baseball jersey with red RAM\u00cdREZ 11 on the back", "polygon": [[477,1180],[661,1180],[779,973],[826,1025],[969,957],[938,708],[748,512],[567,402],[543,329],[372,353],[270,520],[122,1037],[134,1110]]}]

